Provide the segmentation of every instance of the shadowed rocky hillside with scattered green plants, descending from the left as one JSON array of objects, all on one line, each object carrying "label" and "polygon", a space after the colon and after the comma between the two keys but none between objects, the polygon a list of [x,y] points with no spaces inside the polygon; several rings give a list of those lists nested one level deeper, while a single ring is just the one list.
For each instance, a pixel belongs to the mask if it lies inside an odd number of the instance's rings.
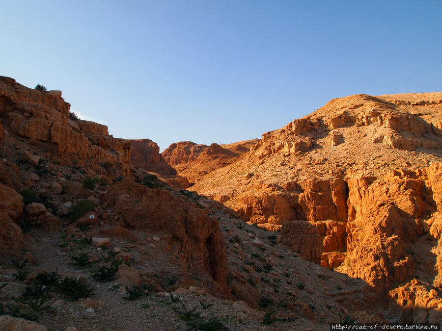
[{"label": "shadowed rocky hillside with scattered green plants, descending from the left", "polygon": [[[369,283],[305,260],[298,238],[175,188],[155,143],[138,159],[152,168],[131,164],[130,140],[69,108],[60,91],[0,76],[2,328],[328,330],[409,318],[404,293],[377,302]],[[437,293],[422,303],[416,314],[440,318]]]}]

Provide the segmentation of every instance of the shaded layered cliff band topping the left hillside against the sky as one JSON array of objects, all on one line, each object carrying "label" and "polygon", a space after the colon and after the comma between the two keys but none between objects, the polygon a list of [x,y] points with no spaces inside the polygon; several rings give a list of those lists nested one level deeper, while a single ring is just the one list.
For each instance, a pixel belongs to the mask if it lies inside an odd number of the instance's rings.
[{"label": "shaded layered cliff band topping the left hillside against the sky", "polygon": [[0,118],[9,133],[28,138],[52,156],[82,160],[97,172],[111,163],[114,169],[130,173],[130,143],[109,135],[106,126],[69,119],[70,104],[61,91],[29,89],[9,77],[0,76]]}]

